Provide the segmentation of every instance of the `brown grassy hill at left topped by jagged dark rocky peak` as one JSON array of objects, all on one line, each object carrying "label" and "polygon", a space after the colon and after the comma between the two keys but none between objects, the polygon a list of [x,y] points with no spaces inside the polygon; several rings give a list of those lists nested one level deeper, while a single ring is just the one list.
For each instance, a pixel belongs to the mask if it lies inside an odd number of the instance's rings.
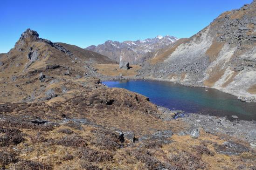
[{"label": "brown grassy hill at left topped by jagged dark rocky peak", "polygon": [[80,49],[70,48],[73,54],[58,43],[39,38],[35,31],[26,30],[14,48],[1,54],[0,101],[31,102],[45,96],[51,86],[56,88],[55,82],[60,88],[62,80],[72,81],[94,71],[90,63],[114,63],[106,56]]}]

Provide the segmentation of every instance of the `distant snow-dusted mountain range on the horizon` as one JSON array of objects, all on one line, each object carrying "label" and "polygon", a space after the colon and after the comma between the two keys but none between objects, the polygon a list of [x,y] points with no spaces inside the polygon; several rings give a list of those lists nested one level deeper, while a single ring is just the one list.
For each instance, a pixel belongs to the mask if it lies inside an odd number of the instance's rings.
[{"label": "distant snow-dusted mountain range on the horizon", "polygon": [[98,46],[90,46],[86,50],[94,51],[105,55],[114,61],[128,61],[131,64],[141,63],[153,57],[154,52],[173,44],[178,38],[170,35],[158,35],[155,38],[148,38],[137,41],[106,41]]}]

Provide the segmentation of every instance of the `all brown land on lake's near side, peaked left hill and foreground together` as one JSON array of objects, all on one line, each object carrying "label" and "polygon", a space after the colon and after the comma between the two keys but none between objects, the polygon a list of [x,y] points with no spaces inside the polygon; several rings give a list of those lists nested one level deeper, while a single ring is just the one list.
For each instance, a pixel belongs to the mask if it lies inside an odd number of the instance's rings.
[{"label": "all brown land on lake's near side, peaked left hill and foreground together", "polygon": [[177,112],[89,77],[99,58],[66,46],[28,29],[1,54],[0,169],[255,169],[254,122],[173,120]]}]

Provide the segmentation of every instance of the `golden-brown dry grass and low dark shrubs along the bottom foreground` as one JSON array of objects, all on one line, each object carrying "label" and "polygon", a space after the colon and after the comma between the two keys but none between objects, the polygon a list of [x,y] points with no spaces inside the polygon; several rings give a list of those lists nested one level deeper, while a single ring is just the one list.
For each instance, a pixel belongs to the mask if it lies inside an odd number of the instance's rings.
[{"label": "golden-brown dry grass and low dark shrubs along the bottom foreground", "polygon": [[[173,132],[187,128],[179,119],[168,123]],[[153,139],[129,144],[122,143],[115,130],[91,125],[80,125],[77,129],[71,124],[62,124],[50,131],[19,126],[25,141],[14,144],[14,147],[23,152],[17,152],[18,155],[15,155],[9,150],[0,151],[1,166],[28,170],[221,170],[238,169],[241,165],[250,168],[254,163],[255,155],[252,152],[238,156],[217,153],[214,146],[221,145],[226,140],[225,136],[211,135],[202,130],[199,138],[173,135],[169,139],[173,141],[170,144]],[[181,126],[182,124],[184,126]],[[145,133],[151,133],[152,125],[144,126],[149,128]],[[83,145],[81,139],[86,145]]]}]

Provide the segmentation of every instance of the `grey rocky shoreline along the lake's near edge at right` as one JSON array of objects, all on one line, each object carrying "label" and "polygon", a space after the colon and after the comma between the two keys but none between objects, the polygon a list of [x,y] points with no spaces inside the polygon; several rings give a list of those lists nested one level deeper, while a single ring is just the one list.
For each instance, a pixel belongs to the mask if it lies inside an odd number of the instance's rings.
[{"label": "grey rocky shoreline along the lake's near edge at right", "polygon": [[200,129],[210,134],[225,134],[236,137],[250,143],[252,148],[256,149],[256,121],[228,120],[226,117],[201,115],[196,113],[185,113],[181,110],[170,110],[158,106],[161,111],[159,116],[164,121],[175,119],[176,121],[186,122],[190,128],[186,131],[180,131],[178,135],[200,136]]}]

